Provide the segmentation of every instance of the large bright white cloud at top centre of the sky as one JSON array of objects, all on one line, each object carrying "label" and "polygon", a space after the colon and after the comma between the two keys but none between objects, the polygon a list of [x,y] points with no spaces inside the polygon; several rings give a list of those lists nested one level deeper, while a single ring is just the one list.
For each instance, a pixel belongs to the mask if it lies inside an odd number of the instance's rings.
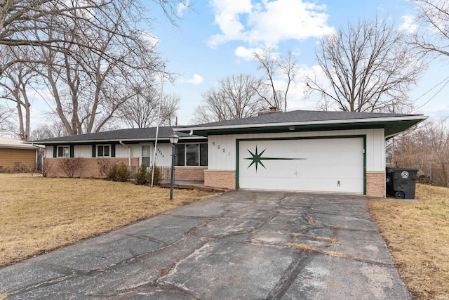
[{"label": "large bright white cloud at top centre of the sky", "polygon": [[304,40],[334,32],[326,25],[326,6],[302,0],[213,0],[215,22],[221,33],[210,37],[208,45],[216,47],[227,41],[244,41],[250,45],[276,48],[279,41]]}]

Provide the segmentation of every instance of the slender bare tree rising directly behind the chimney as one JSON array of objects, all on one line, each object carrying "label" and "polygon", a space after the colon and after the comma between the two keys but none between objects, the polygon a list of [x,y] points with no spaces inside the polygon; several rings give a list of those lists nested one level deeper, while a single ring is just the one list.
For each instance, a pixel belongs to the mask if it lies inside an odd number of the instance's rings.
[{"label": "slender bare tree rising directly behind the chimney", "polygon": [[[297,74],[297,61],[293,59],[292,52],[288,51],[287,56],[282,57],[273,53],[271,48],[266,48],[262,53],[253,52],[253,57],[257,62],[257,70],[264,72],[265,89],[259,91],[259,95],[269,106],[283,108],[286,112],[288,90]],[[276,77],[286,80],[284,91],[277,89]]]}]

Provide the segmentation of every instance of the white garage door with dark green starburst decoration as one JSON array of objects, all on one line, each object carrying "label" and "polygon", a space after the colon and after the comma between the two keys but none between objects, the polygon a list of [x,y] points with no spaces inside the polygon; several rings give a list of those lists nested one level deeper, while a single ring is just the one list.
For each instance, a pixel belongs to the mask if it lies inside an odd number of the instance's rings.
[{"label": "white garage door with dark green starburst decoration", "polygon": [[363,194],[361,137],[238,143],[240,188]]}]

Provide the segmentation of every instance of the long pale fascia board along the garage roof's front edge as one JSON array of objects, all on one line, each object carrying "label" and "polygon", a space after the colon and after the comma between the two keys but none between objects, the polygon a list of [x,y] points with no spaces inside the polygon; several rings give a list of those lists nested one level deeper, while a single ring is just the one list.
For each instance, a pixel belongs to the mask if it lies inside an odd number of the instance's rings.
[{"label": "long pale fascia board along the garage roof's front edge", "polygon": [[426,116],[406,116],[406,117],[383,117],[373,119],[337,119],[324,121],[308,121],[308,122],[283,122],[283,123],[260,123],[260,124],[240,124],[240,125],[221,125],[221,126],[199,126],[199,127],[185,127],[173,128],[173,131],[198,131],[198,130],[217,130],[217,129],[241,129],[241,128],[263,128],[263,127],[279,127],[279,126],[304,126],[304,125],[321,125],[321,124],[357,124],[357,123],[371,123],[371,122],[391,122],[391,121],[411,121],[419,119],[420,122],[427,119]]}]

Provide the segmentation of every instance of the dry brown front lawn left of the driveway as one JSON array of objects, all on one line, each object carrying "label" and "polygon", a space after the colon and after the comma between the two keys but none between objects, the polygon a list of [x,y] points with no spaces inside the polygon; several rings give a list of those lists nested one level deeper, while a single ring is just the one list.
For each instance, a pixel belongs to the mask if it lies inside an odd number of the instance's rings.
[{"label": "dry brown front lawn left of the driveway", "polygon": [[0,174],[0,267],[213,195],[95,179]]}]

